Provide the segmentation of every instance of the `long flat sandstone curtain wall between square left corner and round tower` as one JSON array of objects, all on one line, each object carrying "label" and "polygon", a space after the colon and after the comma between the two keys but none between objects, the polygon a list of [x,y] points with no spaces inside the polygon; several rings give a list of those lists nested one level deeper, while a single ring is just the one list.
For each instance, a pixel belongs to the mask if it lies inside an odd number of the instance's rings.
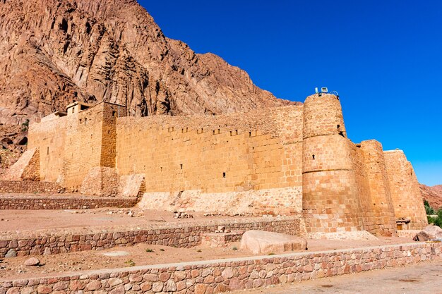
[{"label": "long flat sandstone curtain wall between square left corner and round tower", "polygon": [[297,192],[281,199],[290,209],[301,197],[301,130],[301,106],[229,116],[119,118],[117,169],[121,175],[144,173],[145,190],[152,193],[292,187]]}]

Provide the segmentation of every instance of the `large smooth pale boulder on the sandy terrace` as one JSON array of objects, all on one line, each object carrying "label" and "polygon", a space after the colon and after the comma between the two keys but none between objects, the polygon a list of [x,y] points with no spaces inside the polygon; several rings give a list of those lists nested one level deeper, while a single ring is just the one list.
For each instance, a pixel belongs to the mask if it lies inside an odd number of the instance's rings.
[{"label": "large smooth pale boulder on the sandy terrace", "polygon": [[294,250],[307,250],[304,238],[266,231],[246,231],[241,238],[241,249],[253,254],[280,253]]}]

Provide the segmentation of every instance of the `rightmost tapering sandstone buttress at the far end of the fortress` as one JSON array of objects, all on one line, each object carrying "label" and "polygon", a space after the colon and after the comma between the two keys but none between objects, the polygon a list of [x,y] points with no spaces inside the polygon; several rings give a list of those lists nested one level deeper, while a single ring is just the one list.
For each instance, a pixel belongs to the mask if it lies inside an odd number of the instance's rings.
[{"label": "rightmost tapering sandstone buttress at the far end of the fortress", "polygon": [[397,219],[410,219],[410,229],[419,230],[428,224],[419,182],[410,161],[402,150],[383,152],[388,183]]}]

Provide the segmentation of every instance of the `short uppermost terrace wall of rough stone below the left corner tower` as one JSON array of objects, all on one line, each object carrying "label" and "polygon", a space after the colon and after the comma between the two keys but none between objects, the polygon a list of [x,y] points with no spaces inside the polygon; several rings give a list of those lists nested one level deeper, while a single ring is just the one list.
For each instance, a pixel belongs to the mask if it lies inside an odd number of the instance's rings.
[{"label": "short uppermost terrace wall of rough stone below the left corner tower", "polygon": [[64,189],[54,182],[33,180],[0,180],[0,193],[62,193]]}]

